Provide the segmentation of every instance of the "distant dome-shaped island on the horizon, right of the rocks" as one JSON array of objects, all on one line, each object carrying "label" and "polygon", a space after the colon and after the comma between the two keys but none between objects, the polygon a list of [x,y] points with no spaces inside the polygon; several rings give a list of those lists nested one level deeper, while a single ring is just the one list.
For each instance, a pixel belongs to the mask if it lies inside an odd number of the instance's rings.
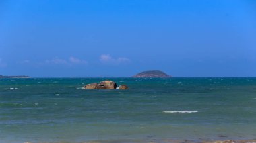
[{"label": "distant dome-shaped island on the horizon, right of the rocks", "polygon": [[167,75],[166,73],[160,70],[148,70],[138,73],[137,75],[133,75],[133,77],[172,77]]}]

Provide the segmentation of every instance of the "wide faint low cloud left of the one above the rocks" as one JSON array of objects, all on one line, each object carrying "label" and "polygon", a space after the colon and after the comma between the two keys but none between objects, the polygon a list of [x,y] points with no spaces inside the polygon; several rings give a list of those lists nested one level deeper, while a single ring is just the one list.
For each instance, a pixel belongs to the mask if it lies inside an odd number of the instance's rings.
[{"label": "wide faint low cloud left of the one above the rocks", "polygon": [[87,64],[86,60],[80,60],[79,58],[75,58],[73,56],[69,57],[69,59],[65,60],[62,58],[53,58],[51,60],[46,60],[45,64],[62,64],[62,65],[73,65],[73,64]]}]

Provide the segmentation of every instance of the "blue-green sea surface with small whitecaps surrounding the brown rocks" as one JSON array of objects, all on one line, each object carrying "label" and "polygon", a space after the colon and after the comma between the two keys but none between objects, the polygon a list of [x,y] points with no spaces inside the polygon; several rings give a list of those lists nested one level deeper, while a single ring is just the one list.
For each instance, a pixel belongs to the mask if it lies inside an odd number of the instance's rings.
[{"label": "blue-green sea surface with small whitecaps surrounding the brown rocks", "polygon": [[1,143],[255,138],[256,78],[0,79]]}]

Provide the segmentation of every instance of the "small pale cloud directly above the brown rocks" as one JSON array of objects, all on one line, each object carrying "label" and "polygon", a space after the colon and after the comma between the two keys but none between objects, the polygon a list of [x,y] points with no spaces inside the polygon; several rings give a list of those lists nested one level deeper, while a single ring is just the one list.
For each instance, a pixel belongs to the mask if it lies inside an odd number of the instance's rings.
[{"label": "small pale cloud directly above the brown rocks", "polygon": [[119,57],[119,58],[113,58],[112,56],[110,56],[110,54],[102,54],[100,56],[100,62],[104,63],[104,64],[121,64],[121,63],[128,63],[131,60],[129,60],[129,58],[125,58],[125,57]]}]

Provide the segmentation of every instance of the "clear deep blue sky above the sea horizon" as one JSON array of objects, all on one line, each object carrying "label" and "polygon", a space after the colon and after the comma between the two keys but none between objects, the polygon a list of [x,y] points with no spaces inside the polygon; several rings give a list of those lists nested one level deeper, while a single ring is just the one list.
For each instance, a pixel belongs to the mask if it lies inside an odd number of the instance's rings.
[{"label": "clear deep blue sky above the sea horizon", "polygon": [[253,0],[3,0],[0,75],[256,77]]}]

